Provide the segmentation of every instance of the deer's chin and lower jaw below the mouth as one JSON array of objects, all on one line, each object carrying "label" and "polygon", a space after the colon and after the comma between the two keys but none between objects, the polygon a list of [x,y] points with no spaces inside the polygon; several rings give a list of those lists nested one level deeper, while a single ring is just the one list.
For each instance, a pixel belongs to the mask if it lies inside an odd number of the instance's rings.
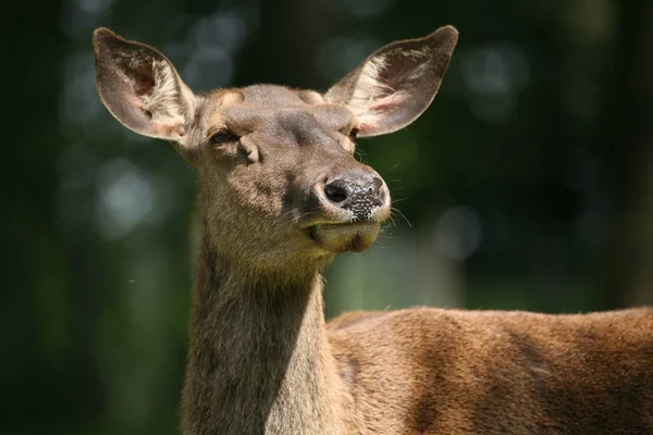
[{"label": "deer's chin and lower jaw below the mouth", "polygon": [[307,228],[309,237],[323,250],[338,253],[360,252],[377,240],[381,225],[377,222],[318,224]]}]

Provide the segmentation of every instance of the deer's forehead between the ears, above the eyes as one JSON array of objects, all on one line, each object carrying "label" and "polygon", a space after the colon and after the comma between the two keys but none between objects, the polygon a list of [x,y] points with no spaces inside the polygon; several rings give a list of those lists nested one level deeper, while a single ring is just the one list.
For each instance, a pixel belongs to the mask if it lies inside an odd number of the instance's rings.
[{"label": "deer's forehead between the ears, above the eyes", "polygon": [[354,114],[344,105],[328,103],[312,90],[275,85],[254,85],[209,95],[212,122],[247,130],[321,127],[343,129],[354,125]]}]

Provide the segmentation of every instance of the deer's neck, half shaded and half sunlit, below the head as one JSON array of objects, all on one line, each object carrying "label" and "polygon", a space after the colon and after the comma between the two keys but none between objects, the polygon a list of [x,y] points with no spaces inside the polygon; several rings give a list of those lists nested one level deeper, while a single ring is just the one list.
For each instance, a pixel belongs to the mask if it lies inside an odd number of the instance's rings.
[{"label": "deer's neck, half shaded and half sunlit, below the head", "polygon": [[246,274],[205,241],[184,434],[334,434],[337,375],[322,307],[318,271],[294,279]]}]

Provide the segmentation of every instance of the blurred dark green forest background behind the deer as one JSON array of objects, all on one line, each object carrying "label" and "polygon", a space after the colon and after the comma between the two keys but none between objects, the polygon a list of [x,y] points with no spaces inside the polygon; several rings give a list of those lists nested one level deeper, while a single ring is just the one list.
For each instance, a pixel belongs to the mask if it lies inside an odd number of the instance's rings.
[{"label": "blurred dark green forest background behind the deer", "polygon": [[[0,434],[174,434],[195,173],[114,121],[90,34],[196,89],[325,90],[373,49],[460,30],[440,95],[360,140],[394,216],[329,272],[328,314],[653,303],[653,2],[41,0],[3,30]],[[9,115],[9,117],[8,117]]]}]

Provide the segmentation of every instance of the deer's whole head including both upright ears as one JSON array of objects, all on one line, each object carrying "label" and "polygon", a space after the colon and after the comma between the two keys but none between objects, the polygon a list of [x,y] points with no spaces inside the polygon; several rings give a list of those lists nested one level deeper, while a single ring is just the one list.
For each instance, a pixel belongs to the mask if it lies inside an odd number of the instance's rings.
[{"label": "deer's whole head including both upright ears", "polygon": [[275,268],[361,251],[390,215],[357,137],[392,133],[433,100],[453,27],[372,53],[324,95],[255,85],[195,94],[156,49],[94,34],[98,89],[126,127],[171,141],[200,174],[206,236],[238,261]]}]

